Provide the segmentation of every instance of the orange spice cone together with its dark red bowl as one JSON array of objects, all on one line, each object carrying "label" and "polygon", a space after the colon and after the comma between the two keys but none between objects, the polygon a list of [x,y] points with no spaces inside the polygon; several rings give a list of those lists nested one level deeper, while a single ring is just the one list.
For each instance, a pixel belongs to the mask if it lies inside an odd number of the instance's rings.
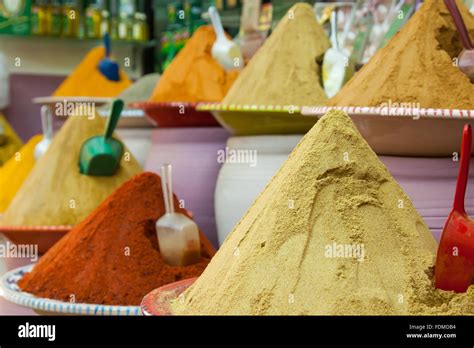
[{"label": "orange spice cone together with its dark red bowl", "polygon": [[209,113],[196,113],[198,102],[220,102],[238,75],[212,57],[216,34],[199,27],[166,68],[147,103],[137,104],[160,127],[216,126]]}]

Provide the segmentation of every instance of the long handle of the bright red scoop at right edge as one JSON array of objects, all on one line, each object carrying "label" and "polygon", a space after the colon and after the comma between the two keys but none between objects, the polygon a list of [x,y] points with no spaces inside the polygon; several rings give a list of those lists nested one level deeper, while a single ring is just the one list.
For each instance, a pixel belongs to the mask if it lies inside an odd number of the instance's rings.
[{"label": "long handle of the bright red scoop at right edge", "polygon": [[464,209],[464,196],[466,194],[467,179],[469,177],[469,162],[471,160],[472,130],[469,124],[464,126],[461,144],[461,161],[459,164],[456,191],[454,193],[453,210],[466,214]]}]

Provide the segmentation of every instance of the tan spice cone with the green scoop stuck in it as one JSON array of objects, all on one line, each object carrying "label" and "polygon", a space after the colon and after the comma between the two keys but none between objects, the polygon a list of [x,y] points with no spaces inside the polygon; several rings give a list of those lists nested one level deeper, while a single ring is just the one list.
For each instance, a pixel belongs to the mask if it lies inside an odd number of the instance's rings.
[{"label": "tan spice cone with the green scoop stuck in it", "polygon": [[97,114],[70,116],[5,210],[0,224],[75,225],[126,180],[141,172],[128,149],[113,176],[88,176],[79,172],[82,144],[92,136],[103,134],[104,127],[105,120]]}]

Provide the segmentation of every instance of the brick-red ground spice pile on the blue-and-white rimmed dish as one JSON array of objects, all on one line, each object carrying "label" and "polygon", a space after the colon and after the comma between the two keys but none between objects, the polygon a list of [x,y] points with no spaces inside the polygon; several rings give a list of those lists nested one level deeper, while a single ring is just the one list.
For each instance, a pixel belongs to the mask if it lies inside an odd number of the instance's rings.
[{"label": "brick-red ground spice pile on the blue-and-white rimmed dish", "polygon": [[[185,213],[174,197],[177,212]],[[139,305],[162,285],[199,276],[214,249],[200,232],[199,263],[161,259],[155,223],[165,213],[160,177],[139,174],[56,243],[19,282],[39,297],[83,303]]]}]

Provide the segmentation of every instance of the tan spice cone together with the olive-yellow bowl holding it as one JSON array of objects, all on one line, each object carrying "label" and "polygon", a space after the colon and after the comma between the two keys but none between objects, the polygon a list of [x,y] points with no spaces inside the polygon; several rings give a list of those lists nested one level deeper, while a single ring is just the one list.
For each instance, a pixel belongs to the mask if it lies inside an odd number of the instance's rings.
[{"label": "tan spice cone together with the olive-yellow bowl holding it", "polygon": [[221,104],[207,104],[219,122],[238,135],[308,131],[314,120],[303,105],[324,105],[321,61],[330,47],[313,9],[294,5],[242,70]]}]

